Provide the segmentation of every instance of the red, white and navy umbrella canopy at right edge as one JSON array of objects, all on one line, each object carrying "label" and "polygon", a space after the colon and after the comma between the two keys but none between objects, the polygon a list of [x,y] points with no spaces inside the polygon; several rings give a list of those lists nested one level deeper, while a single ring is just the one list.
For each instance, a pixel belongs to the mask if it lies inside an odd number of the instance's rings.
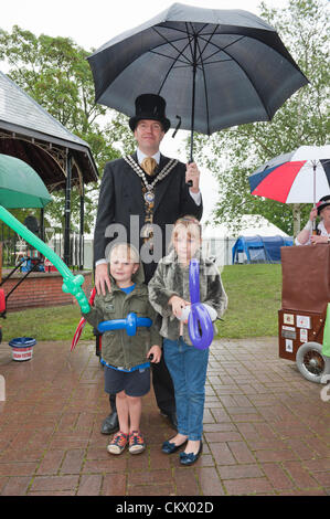
[{"label": "red, white and navy umbrella canopy at right edge", "polygon": [[330,194],[330,145],[300,146],[257,169],[251,193],[283,203],[316,203]]}]

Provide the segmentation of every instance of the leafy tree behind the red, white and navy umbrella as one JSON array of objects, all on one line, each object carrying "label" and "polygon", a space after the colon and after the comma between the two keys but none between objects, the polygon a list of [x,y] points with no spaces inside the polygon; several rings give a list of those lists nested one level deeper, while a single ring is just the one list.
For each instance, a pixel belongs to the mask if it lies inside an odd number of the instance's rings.
[{"label": "leafy tree behind the red, white and navy umbrella", "polygon": [[[329,13],[324,0],[290,0],[286,9],[260,4],[260,18],[279,33],[310,81],[276,113],[272,123],[227,128],[211,137],[196,137],[195,159],[215,171],[221,199],[216,222],[234,230],[243,214],[260,214],[288,234],[297,234],[310,204],[281,204],[253,197],[248,177],[266,160],[301,145],[323,145],[329,139],[327,115]],[[207,152],[205,152],[207,150]],[[292,219],[294,214],[294,219]],[[296,222],[294,229],[294,221]]]}]

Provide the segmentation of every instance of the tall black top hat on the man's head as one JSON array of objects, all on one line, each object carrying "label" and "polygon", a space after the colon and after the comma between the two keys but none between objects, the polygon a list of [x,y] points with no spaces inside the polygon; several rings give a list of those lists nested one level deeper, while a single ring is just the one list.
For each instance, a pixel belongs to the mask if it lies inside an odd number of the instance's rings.
[{"label": "tall black top hat on the man's head", "polygon": [[129,119],[129,127],[134,131],[141,119],[159,120],[164,133],[171,126],[166,117],[166,100],[157,94],[142,94],[136,98],[136,115]]}]

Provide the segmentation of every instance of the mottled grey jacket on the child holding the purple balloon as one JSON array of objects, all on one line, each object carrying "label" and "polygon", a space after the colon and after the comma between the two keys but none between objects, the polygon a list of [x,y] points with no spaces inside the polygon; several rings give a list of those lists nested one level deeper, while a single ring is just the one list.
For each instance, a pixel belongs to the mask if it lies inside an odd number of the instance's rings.
[{"label": "mottled grey jacket on the child holding the purple balloon", "polygon": [[[227,307],[227,296],[220,272],[213,260],[203,258],[200,252],[195,257],[200,263],[201,303],[212,306],[217,317],[222,317]],[[160,335],[171,340],[179,339],[180,321],[172,315],[172,307],[168,301],[174,295],[190,301],[190,290],[189,267],[184,268],[178,263],[175,251],[160,260],[148,289],[151,305],[162,316]],[[188,325],[183,326],[183,340],[191,345]]]}]

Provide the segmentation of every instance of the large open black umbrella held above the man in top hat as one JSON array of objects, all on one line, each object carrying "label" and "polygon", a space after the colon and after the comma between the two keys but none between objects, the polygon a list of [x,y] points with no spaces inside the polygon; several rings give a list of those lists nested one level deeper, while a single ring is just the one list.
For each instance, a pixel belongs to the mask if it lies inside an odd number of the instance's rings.
[{"label": "large open black umbrella held above the man in top hat", "polygon": [[[96,102],[128,116],[145,93],[167,100],[172,125],[211,135],[270,120],[308,83],[275,29],[242,10],[173,3],[88,57]],[[191,138],[191,160],[193,139]]]}]

